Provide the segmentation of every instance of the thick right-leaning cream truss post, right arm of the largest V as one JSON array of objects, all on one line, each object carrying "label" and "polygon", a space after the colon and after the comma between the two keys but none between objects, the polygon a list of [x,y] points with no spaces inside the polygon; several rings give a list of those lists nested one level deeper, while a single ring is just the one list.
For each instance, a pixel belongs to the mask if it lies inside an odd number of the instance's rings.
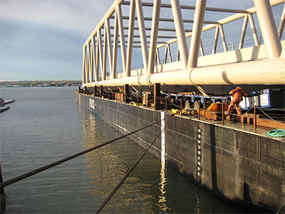
[{"label": "thick right-leaning cream truss post, right arm of the largest V", "polygon": [[192,37],[191,37],[187,68],[195,68],[197,66],[206,4],[207,0],[196,1],[196,9],[195,9],[194,23],[192,28]]}]

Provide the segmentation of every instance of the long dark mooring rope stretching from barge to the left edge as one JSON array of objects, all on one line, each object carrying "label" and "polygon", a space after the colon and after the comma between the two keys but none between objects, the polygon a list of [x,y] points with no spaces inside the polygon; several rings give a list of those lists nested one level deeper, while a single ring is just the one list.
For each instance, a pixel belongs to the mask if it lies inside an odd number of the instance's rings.
[{"label": "long dark mooring rope stretching from barge to the left edge", "polygon": [[[170,118],[170,116],[168,116],[167,118]],[[162,120],[160,120],[160,121],[162,121]],[[80,152],[80,153],[76,153],[76,154],[73,155],[73,156],[69,156],[69,157],[67,157],[67,158],[63,158],[63,159],[61,159],[61,160],[59,160],[59,161],[56,161],[56,162],[53,162],[53,163],[51,163],[51,164],[45,165],[45,166],[43,166],[43,167],[41,167],[41,168],[37,168],[36,170],[32,170],[31,172],[28,172],[28,173],[25,173],[25,174],[23,174],[23,175],[19,175],[19,176],[15,177],[15,178],[11,178],[11,179],[9,179],[9,180],[6,180],[6,181],[0,183],[0,187],[1,187],[1,188],[4,188],[4,187],[6,187],[7,185],[11,185],[12,183],[16,183],[16,182],[18,182],[19,180],[23,180],[24,178],[30,177],[31,175],[35,175],[35,174],[37,174],[37,173],[41,173],[43,170],[47,170],[48,168],[52,168],[52,167],[54,167],[54,166],[56,166],[56,165],[59,165],[59,164],[61,164],[61,163],[66,162],[66,161],[70,161],[70,160],[73,159],[73,158],[77,158],[78,156],[82,156],[82,155],[84,155],[84,154],[86,154],[86,153],[88,153],[88,152],[90,152],[90,151],[93,151],[93,150],[95,150],[95,149],[97,149],[97,148],[106,146],[106,145],[108,145],[109,143],[113,143],[113,142],[115,142],[115,141],[120,140],[121,138],[125,138],[125,137],[127,137],[127,136],[130,136],[130,135],[132,135],[133,133],[137,133],[138,131],[142,131],[142,130],[145,129],[145,128],[148,128],[148,127],[150,127],[150,126],[155,125],[156,123],[160,123],[160,121],[156,121],[155,123],[151,123],[151,124],[148,125],[148,126],[142,127],[142,128],[140,128],[140,129],[138,129],[138,130],[136,130],[136,131],[133,131],[133,132],[128,133],[128,134],[125,134],[124,136],[120,136],[120,137],[115,138],[115,139],[113,139],[113,140],[111,140],[111,141],[107,141],[107,142],[102,143],[102,144],[100,144],[100,145],[98,145],[98,146],[94,146],[93,148],[88,148],[87,150],[82,151],[82,152]]]}]

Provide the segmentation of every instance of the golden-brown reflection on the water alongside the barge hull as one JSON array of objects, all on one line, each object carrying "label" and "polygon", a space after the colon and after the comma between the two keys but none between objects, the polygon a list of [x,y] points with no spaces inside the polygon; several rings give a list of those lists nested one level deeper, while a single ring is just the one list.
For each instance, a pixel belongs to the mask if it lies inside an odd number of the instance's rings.
[{"label": "golden-brown reflection on the water alongside the barge hull", "polygon": [[[83,146],[91,148],[121,136],[115,128],[81,111]],[[145,150],[128,138],[86,154],[83,179],[93,212]],[[239,213],[147,153],[102,213]]]}]

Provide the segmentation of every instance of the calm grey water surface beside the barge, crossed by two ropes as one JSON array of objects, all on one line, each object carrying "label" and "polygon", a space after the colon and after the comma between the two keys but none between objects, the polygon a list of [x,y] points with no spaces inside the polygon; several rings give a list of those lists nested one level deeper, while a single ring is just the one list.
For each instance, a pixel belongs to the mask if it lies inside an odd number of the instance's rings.
[{"label": "calm grey water surface beside the barge, crossed by two ropes", "polygon": [[[77,87],[1,88],[4,180],[120,133],[76,103]],[[128,138],[5,188],[4,213],[95,213],[143,153]],[[102,213],[240,213],[147,154]]]}]

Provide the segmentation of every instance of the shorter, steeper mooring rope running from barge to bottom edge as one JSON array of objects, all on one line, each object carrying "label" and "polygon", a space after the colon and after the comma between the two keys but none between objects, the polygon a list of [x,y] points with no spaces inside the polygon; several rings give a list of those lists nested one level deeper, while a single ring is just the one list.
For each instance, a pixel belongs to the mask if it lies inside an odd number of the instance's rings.
[{"label": "shorter, steeper mooring rope running from barge to bottom edge", "polygon": [[[174,114],[172,114],[170,117],[173,117]],[[100,208],[96,211],[96,214],[100,213],[100,211],[105,207],[105,205],[109,202],[109,200],[113,197],[113,195],[115,195],[115,193],[119,190],[120,186],[123,185],[123,183],[125,182],[125,180],[128,178],[128,176],[130,175],[130,173],[133,172],[133,170],[135,169],[135,167],[138,165],[138,163],[140,163],[140,161],[142,160],[142,158],[145,156],[145,154],[147,153],[147,151],[150,149],[150,147],[152,147],[152,145],[155,143],[155,141],[157,140],[157,138],[160,136],[160,134],[162,133],[162,131],[165,131],[165,128],[167,126],[167,124],[170,121],[170,117],[169,120],[165,123],[165,126],[160,130],[160,133],[157,134],[157,136],[155,137],[155,139],[152,141],[152,143],[150,144],[150,146],[147,148],[147,150],[142,154],[142,156],[140,156],[140,158],[138,159],[138,161],[133,165],[132,168],[130,168],[130,170],[128,170],[128,173],[125,174],[125,176],[122,178],[122,180],[120,180],[120,182],[118,183],[118,185],[116,185],[116,187],[113,189],[112,193],[110,193],[110,195],[104,200],[104,202],[102,203],[102,205],[100,205]],[[166,120],[166,118],[164,119]]]}]

